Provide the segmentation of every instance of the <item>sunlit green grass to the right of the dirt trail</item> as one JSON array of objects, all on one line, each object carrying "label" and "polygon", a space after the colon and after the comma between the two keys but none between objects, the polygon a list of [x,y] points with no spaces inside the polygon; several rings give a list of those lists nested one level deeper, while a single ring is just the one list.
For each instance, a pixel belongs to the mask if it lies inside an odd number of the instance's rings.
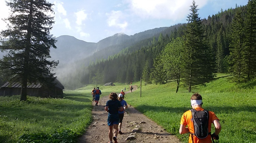
[{"label": "sunlit green grass to the right of the dirt trail", "polygon": [[[229,83],[228,75],[218,74],[214,81],[193,87],[192,92],[199,92],[203,97],[203,108],[214,111],[220,119],[220,142],[255,142],[255,85],[255,81],[242,85]],[[181,141],[188,142],[188,135],[180,135],[179,128],[182,114],[191,108],[192,93],[188,93],[182,86],[178,93],[175,93],[175,89],[175,82],[143,85],[141,97],[140,91],[137,90],[128,94],[126,101]]]}]

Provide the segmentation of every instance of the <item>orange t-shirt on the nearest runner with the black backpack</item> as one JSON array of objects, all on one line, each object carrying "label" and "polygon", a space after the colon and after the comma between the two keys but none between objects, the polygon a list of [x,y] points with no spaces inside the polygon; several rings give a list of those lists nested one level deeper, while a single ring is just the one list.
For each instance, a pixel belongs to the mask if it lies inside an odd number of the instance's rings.
[{"label": "orange t-shirt on the nearest runner with the black backpack", "polygon": [[[197,111],[202,111],[203,108],[201,107],[196,107],[195,108]],[[208,123],[208,131],[211,132],[211,126],[214,120],[219,120],[218,117],[215,115],[214,112],[209,111],[209,123]],[[195,133],[194,131],[194,124],[193,124],[193,120],[192,120],[192,113],[190,110],[186,111],[182,117],[181,117],[181,124],[184,126],[188,126],[188,130],[191,133]],[[194,139],[194,143],[212,143],[211,140],[211,135],[208,135],[206,138],[204,139],[198,139],[196,136],[193,135],[193,139]],[[192,138],[191,138],[191,134],[189,134],[189,139],[188,139],[188,143],[192,143]]]}]

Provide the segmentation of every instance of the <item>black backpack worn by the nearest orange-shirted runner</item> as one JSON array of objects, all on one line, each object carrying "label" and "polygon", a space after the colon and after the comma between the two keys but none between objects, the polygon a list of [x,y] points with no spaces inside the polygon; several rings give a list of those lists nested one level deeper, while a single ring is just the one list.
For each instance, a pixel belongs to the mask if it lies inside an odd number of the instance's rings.
[{"label": "black backpack worn by the nearest orange-shirted runner", "polygon": [[194,133],[192,134],[192,140],[193,140],[193,135],[195,135],[199,139],[204,139],[206,138],[209,134],[208,130],[208,124],[209,124],[209,112],[208,110],[203,110],[203,111],[197,111],[195,109],[190,110],[192,113],[192,118],[193,118],[193,124],[194,124]]}]

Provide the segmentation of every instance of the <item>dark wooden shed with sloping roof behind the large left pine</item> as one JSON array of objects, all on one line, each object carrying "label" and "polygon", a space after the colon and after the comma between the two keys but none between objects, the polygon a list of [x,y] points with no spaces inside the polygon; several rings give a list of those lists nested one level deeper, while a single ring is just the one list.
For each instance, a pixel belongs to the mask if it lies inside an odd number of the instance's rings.
[{"label": "dark wooden shed with sloping roof behind the large left pine", "polygon": [[[63,97],[64,86],[55,79],[55,87],[49,89],[46,86],[43,86],[40,83],[28,83],[27,85],[27,95],[36,96],[36,97]],[[20,95],[22,91],[22,85],[19,82],[9,83],[6,82],[0,88],[0,96],[11,96],[11,95]]]}]

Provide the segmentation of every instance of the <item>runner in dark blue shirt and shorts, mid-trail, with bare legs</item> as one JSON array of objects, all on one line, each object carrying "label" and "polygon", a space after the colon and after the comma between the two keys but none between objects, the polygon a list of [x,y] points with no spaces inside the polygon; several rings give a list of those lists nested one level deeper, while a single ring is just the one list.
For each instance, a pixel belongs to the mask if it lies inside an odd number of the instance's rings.
[{"label": "runner in dark blue shirt and shorts, mid-trail, with bare legs", "polygon": [[[114,143],[117,143],[117,130],[118,130],[118,123],[119,123],[119,114],[118,111],[124,110],[123,106],[121,105],[120,101],[118,100],[117,94],[115,92],[112,92],[109,94],[109,99],[106,102],[105,110],[109,112],[108,114],[108,125],[109,125],[109,143],[112,143],[112,137],[115,141]],[[114,133],[113,133],[114,128]]]}]

